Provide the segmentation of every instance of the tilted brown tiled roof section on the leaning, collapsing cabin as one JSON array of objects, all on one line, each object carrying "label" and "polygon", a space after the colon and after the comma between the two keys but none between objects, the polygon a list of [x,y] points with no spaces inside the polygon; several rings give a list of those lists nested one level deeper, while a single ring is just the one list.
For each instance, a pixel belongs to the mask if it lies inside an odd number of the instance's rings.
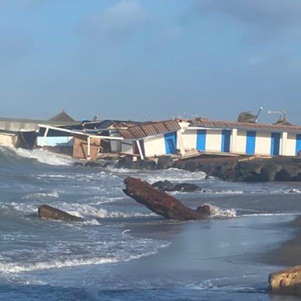
[{"label": "tilted brown tiled roof section on the leaning, collapsing cabin", "polygon": [[179,130],[181,127],[176,120],[147,122],[128,128],[119,128],[118,131],[125,139],[141,139]]}]

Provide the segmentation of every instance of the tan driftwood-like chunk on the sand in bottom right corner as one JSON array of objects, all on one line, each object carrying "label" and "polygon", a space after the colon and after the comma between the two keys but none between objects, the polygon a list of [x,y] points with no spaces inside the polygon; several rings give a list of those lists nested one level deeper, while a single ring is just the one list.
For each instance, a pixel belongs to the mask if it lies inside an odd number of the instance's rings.
[{"label": "tan driftwood-like chunk on the sand in bottom right corner", "polygon": [[271,273],[268,281],[272,292],[301,294],[301,266]]}]

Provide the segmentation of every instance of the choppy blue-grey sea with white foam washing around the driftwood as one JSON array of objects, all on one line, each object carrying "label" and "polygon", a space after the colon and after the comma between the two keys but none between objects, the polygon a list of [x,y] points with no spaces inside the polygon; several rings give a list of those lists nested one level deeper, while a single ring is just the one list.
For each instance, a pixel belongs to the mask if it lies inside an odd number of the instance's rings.
[{"label": "choppy blue-grey sea with white foam washing around the driftwood", "polygon": [[[126,196],[126,177],[194,183],[172,193],[208,220],[166,220]],[[293,300],[268,290],[264,254],[293,236],[300,183],[227,183],[203,172],[74,166],[0,147],[0,300]],[[44,220],[42,204],[84,218]],[[261,258],[259,260],[259,258]]]}]

